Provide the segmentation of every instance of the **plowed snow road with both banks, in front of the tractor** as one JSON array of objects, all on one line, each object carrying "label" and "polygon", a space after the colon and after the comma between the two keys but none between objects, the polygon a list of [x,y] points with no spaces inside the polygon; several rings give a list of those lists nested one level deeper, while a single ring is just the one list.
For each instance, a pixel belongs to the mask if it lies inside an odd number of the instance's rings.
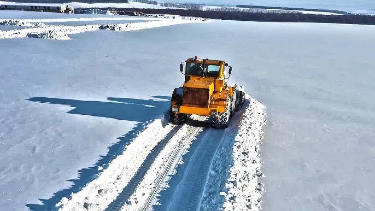
[{"label": "plowed snow road with both banks, in front of the tractor", "polygon": [[[151,122],[107,167],[99,167],[102,172],[96,179],[56,206],[60,211],[259,209],[258,148],[263,124],[264,106],[252,98],[226,130],[211,128],[208,118],[202,116],[190,116],[184,125],[169,124],[163,116]],[[240,145],[251,147],[233,149],[241,141]],[[251,166],[244,163],[246,158],[233,160],[236,150],[254,160],[249,162]],[[228,180],[239,169],[237,163],[242,163],[240,169],[248,167],[241,171],[252,173],[241,181],[247,189],[234,190],[231,184],[237,182]],[[229,194],[236,196],[226,199]],[[235,197],[244,197],[246,204]]]}]

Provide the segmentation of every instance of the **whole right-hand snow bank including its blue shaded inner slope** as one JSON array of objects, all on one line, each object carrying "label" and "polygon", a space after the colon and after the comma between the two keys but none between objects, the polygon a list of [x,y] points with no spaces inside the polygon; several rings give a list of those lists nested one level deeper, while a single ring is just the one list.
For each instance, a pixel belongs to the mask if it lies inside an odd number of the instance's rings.
[{"label": "whole right-hand snow bank including its blue shaded inner slope", "polygon": [[[215,152],[200,210],[260,209],[262,187],[258,177],[262,174],[258,151],[265,107],[249,96],[245,106],[243,113],[231,120]],[[236,121],[239,124],[233,124]]]}]

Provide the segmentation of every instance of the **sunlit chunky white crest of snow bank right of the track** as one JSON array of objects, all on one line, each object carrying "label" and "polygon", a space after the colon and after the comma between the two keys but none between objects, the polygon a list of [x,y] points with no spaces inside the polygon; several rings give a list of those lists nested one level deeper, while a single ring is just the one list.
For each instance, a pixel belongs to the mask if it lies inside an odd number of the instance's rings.
[{"label": "sunlit chunky white crest of snow bank right of the track", "polygon": [[263,184],[258,177],[260,172],[259,145],[263,138],[265,121],[264,105],[253,98],[240,122],[239,131],[233,146],[233,164],[225,187],[224,210],[261,209]]}]

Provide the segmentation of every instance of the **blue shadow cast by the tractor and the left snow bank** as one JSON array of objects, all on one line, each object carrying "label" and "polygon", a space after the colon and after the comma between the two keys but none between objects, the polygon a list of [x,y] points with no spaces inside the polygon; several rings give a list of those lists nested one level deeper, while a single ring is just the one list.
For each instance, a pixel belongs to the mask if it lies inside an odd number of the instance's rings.
[{"label": "blue shadow cast by the tractor and the left snow bank", "polygon": [[[60,190],[53,194],[50,199],[39,199],[40,204],[27,204],[26,206],[31,211],[46,211],[55,210],[55,205],[60,202],[63,197],[69,198],[71,193],[77,193],[86,184],[97,178],[99,174],[99,167],[104,169],[113,161],[121,152],[124,151],[127,145],[134,139],[139,132],[147,126],[144,122],[151,121],[155,117],[162,114],[163,111],[169,108],[169,96],[150,96],[154,99],[132,99],[132,98],[107,98],[113,102],[102,101],[84,101],[75,99],[60,99],[60,98],[46,98],[33,97],[27,99],[33,102],[69,105],[74,107],[67,113],[77,115],[98,116],[105,118],[113,118],[126,121],[138,122],[135,126],[121,137],[118,137],[118,142],[108,147],[107,155],[101,155],[99,161],[92,167],[84,168],[78,171],[78,179],[68,180],[73,182],[70,188]],[[155,100],[157,99],[157,100]],[[168,124],[163,122],[163,126]]]}]

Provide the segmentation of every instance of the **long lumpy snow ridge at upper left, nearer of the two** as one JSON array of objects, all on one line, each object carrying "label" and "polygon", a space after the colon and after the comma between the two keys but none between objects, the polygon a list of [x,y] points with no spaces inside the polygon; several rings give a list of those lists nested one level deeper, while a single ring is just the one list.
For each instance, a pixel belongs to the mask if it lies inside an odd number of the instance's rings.
[{"label": "long lumpy snow ridge at upper left, nearer of the two", "polygon": [[[28,26],[26,22],[15,22],[23,23]],[[151,29],[163,26],[172,26],[176,24],[185,23],[203,23],[202,20],[160,20],[160,21],[149,21],[140,23],[128,23],[128,24],[104,24],[104,25],[85,25],[85,26],[54,26],[54,25],[44,25],[36,24],[37,28],[27,28],[20,30],[9,30],[0,31],[0,39],[5,38],[43,38],[43,39],[58,39],[58,40],[68,40],[70,39],[68,35],[95,31],[99,29],[105,30],[116,30],[116,31],[135,31],[142,29]]]}]

